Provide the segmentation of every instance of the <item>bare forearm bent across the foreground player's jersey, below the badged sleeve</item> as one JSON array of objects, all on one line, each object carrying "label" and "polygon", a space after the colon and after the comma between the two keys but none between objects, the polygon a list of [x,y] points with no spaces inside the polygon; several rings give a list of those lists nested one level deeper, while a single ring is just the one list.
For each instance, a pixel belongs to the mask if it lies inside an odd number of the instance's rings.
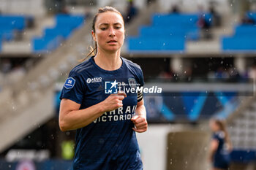
[{"label": "bare forearm bent across the foreground player's jersey, below the badged sleeve", "polygon": [[72,110],[59,120],[61,131],[83,128],[100,117],[104,112],[100,103],[86,109]]}]

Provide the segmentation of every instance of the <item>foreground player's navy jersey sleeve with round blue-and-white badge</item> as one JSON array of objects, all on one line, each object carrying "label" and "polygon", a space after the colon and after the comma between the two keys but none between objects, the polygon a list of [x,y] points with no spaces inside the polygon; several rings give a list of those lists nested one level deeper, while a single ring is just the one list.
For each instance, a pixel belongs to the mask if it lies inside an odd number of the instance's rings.
[{"label": "foreground player's navy jersey sleeve with round blue-and-white badge", "polygon": [[82,104],[84,88],[85,85],[80,75],[71,71],[62,88],[60,99],[67,98],[78,104]]}]

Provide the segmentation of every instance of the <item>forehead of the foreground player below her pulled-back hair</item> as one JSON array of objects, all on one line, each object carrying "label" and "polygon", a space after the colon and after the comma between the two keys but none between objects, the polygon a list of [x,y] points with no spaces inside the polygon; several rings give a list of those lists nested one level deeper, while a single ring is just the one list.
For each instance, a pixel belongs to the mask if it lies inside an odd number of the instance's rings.
[{"label": "forehead of the foreground player below her pulled-back hair", "polygon": [[102,23],[108,23],[108,24],[113,24],[113,23],[121,23],[123,24],[123,18],[121,15],[119,15],[117,12],[103,12],[100,13],[97,17],[95,25],[100,25]]}]

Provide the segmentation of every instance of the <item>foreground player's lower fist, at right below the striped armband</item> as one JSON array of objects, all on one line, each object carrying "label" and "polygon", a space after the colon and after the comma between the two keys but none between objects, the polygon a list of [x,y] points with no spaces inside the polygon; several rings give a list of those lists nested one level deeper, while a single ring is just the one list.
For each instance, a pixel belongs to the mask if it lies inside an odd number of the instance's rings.
[{"label": "foreground player's lower fist, at right below the striped armband", "polygon": [[143,133],[148,129],[148,123],[146,117],[142,115],[135,115],[132,117],[132,123],[135,124],[135,128],[132,128],[133,131],[137,131],[138,133]]}]

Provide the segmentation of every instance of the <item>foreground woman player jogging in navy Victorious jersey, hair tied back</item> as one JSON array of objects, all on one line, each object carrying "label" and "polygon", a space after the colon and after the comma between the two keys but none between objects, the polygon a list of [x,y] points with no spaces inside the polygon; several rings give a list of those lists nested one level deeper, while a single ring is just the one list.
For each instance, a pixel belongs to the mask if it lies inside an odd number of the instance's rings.
[{"label": "foreground woman player jogging in navy Victorious jersey, hair tied back", "polygon": [[72,69],[60,97],[61,131],[77,130],[73,167],[143,169],[135,131],[147,130],[146,109],[141,91],[131,90],[143,86],[143,72],[120,56],[121,13],[113,7],[100,8],[91,34],[96,55]]}]

